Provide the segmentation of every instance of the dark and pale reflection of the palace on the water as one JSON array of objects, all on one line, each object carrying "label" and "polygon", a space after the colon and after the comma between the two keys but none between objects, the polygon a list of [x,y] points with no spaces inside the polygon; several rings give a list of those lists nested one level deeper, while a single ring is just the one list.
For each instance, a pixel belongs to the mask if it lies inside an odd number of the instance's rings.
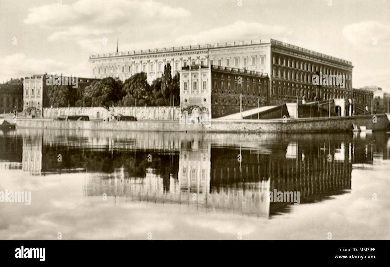
[{"label": "dark and pale reflection of the palace on the water", "polygon": [[353,168],[381,165],[389,158],[388,144],[384,133],[363,139],[18,129],[1,136],[0,161],[1,168],[32,175],[85,173],[80,189],[85,197],[105,193],[272,218],[289,212],[293,203],[269,202],[269,191],[299,191],[301,204],[348,193]]}]

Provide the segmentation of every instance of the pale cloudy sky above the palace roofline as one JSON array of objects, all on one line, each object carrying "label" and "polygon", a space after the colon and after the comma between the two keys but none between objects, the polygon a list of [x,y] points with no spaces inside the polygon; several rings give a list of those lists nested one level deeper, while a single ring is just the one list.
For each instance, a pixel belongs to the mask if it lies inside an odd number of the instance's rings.
[{"label": "pale cloudy sky above the palace roofline", "polygon": [[[283,38],[351,61],[353,88],[390,92],[390,0],[0,0],[0,83],[90,77],[89,55]],[[103,42],[106,38],[106,44]]]}]

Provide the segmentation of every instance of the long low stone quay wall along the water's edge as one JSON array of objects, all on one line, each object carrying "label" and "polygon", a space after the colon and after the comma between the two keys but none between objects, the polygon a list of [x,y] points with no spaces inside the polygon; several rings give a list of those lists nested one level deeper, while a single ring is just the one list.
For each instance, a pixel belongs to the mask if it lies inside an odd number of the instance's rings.
[{"label": "long low stone quay wall along the water's edge", "polygon": [[318,133],[351,131],[353,124],[366,126],[374,131],[389,131],[390,124],[385,114],[353,117],[270,119],[270,120],[222,120],[211,119],[210,127],[204,124],[179,124],[178,120],[141,120],[137,122],[59,121],[48,119],[18,119],[20,128],[118,130],[118,131],[164,131],[164,132],[285,132]]}]

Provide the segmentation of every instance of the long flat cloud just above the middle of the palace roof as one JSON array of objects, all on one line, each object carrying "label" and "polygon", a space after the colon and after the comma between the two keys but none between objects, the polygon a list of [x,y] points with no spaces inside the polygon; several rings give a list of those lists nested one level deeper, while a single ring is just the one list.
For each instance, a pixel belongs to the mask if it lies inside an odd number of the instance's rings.
[{"label": "long flat cloud just above the middle of the palace roof", "polygon": [[201,31],[194,34],[182,35],[176,38],[176,42],[191,44],[193,38],[197,38],[197,43],[213,43],[226,41],[246,41],[269,38],[282,38],[292,34],[287,27],[280,25],[265,25],[258,22],[236,21],[233,24],[216,27],[210,30]]}]

